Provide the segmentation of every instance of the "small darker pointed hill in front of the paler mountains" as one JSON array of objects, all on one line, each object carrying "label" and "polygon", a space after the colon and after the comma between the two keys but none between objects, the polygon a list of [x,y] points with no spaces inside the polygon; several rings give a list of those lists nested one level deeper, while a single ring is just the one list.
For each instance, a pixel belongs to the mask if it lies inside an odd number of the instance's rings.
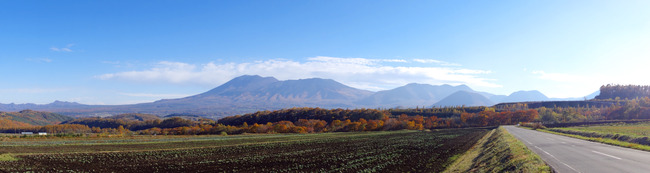
[{"label": "small darker pointed hill in front of the paler mountains", "polygon": [[469,91],[458,91],[440,100],[433,106],[492,106],[495,103],[485,96]]}]

